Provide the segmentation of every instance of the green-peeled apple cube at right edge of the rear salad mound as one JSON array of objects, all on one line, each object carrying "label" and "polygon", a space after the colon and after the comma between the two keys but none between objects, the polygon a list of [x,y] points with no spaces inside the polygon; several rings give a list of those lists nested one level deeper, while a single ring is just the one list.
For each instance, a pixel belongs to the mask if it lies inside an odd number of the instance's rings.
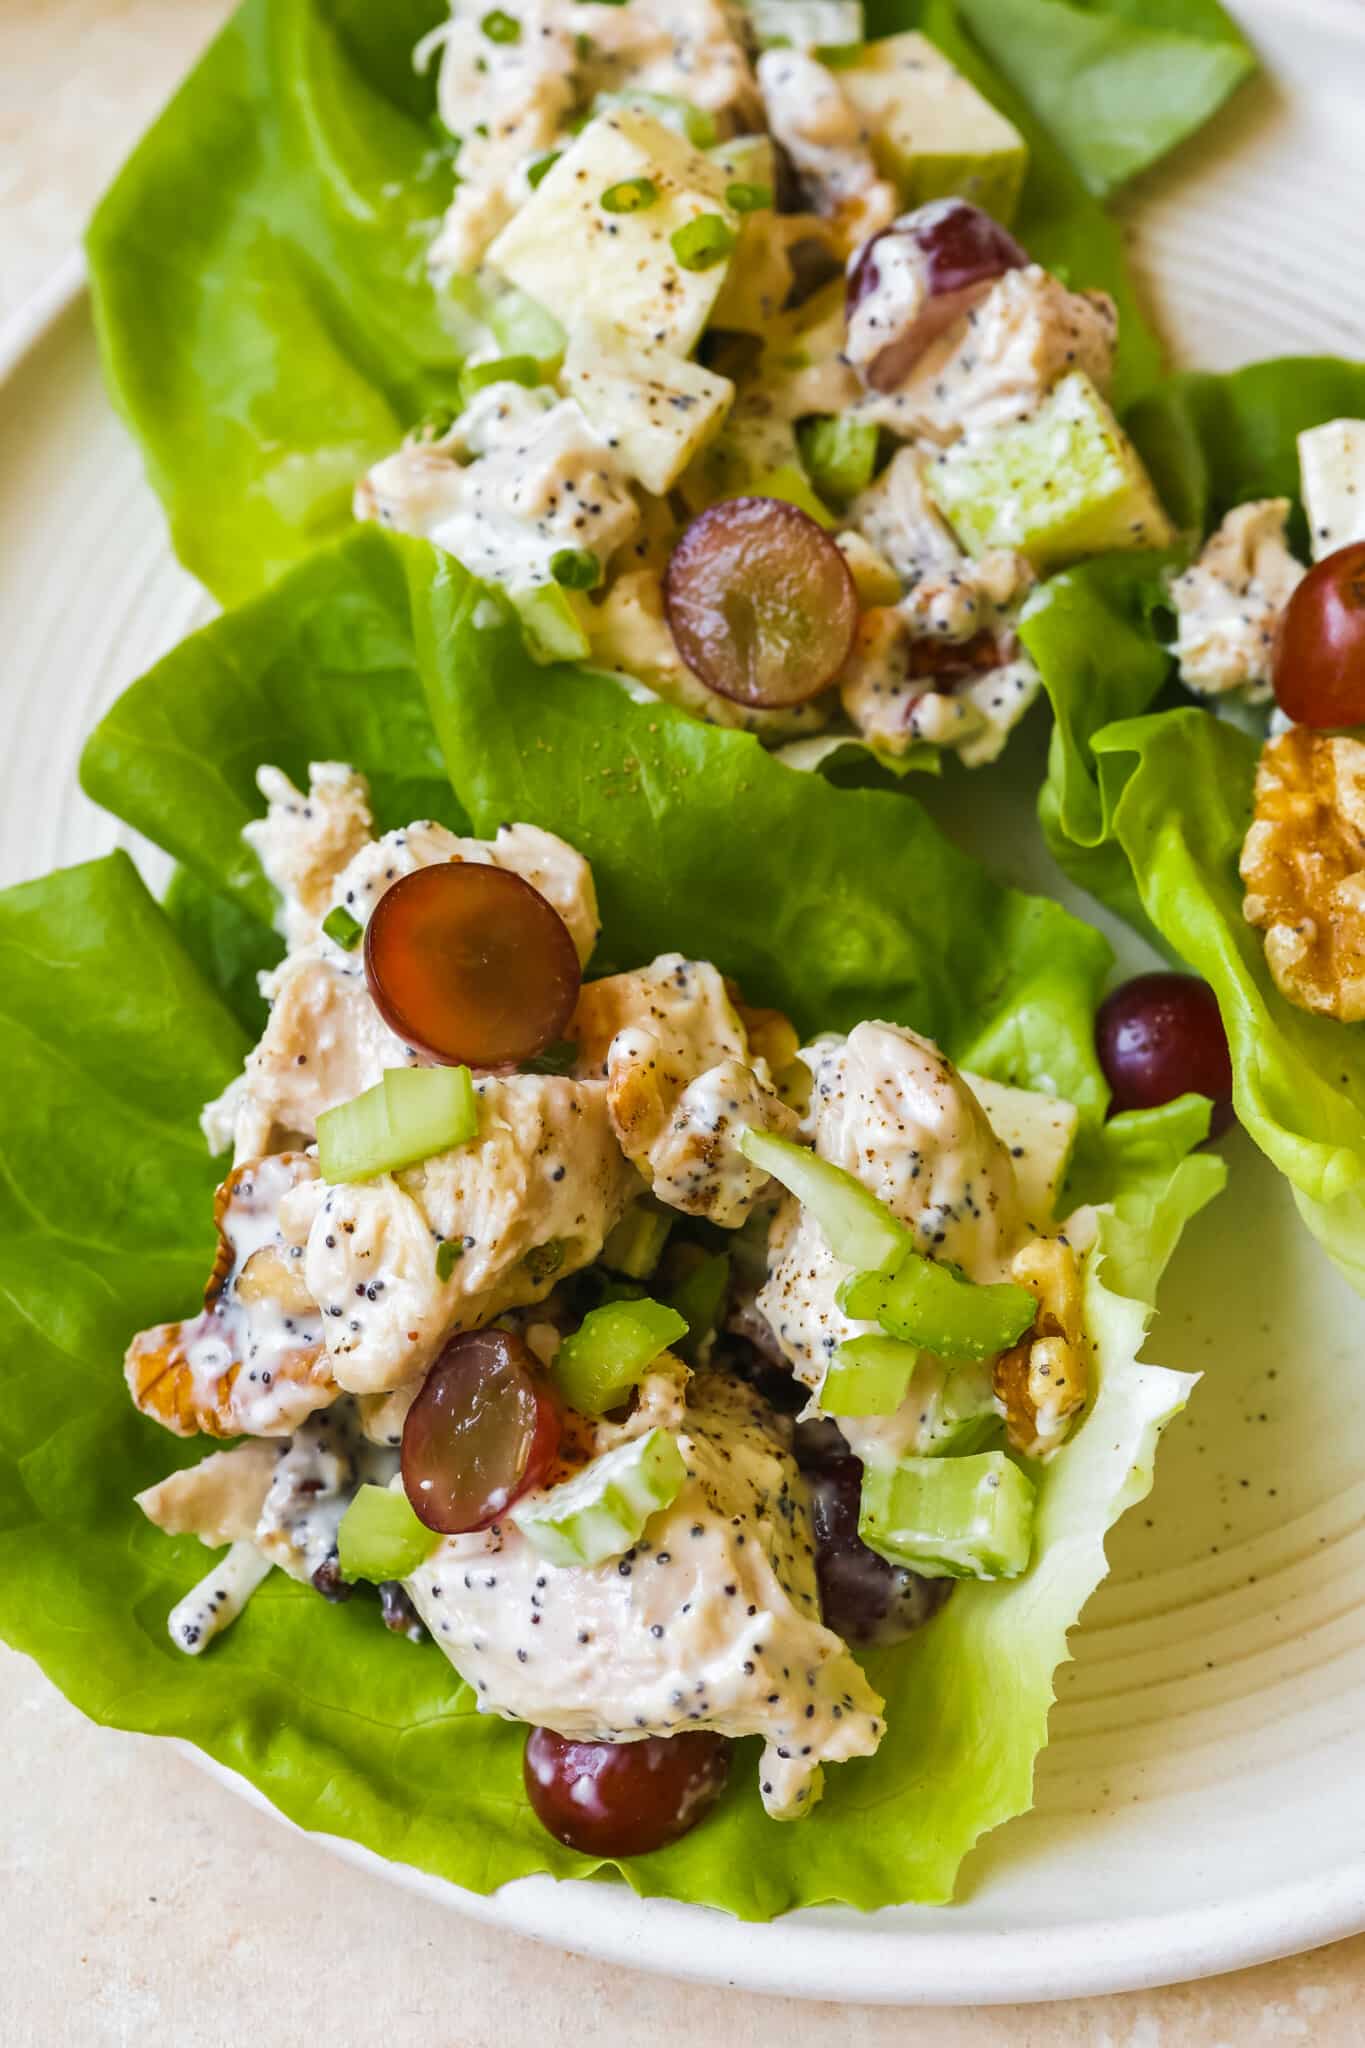
[{"label": "green-peeled apple cube at right edge of the rear salad mound", "polygon": [[1027,418],[943,449],[925,481],[970,555],[1013,547],[1040,573],[1175,539],[1138,451],[1083,371]]}]

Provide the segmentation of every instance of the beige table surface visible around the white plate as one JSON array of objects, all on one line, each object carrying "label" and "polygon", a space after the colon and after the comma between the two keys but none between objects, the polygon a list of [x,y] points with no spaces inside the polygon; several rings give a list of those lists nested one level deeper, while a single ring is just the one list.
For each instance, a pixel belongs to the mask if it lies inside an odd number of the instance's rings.
[{"label": "beige table surface visible around the white plate", "polygon": [[[0,0],[0,319],[68,252],[225,12],[225,0]],[[1365,1937],[1177,1991],[993,2011],[702,1991],[391,1890],[182,1757],[86,1724],[8,1651],[0,1731],[0,2048],[1365,2042]]]}]

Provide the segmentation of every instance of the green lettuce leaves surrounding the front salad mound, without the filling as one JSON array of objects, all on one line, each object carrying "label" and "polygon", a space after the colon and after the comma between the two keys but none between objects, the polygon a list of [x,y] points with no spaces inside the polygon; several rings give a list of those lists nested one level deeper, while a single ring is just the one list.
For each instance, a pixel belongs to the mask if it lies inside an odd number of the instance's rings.
[{"label": "green lettuce leaves surrounding the front salad mound, without the filling", "polygon": [[[327,688],[309,690],[321,649]],[[190,1307],[213,1251],[196,1114],[241,1061],[231,995],[270,944],[270,893],[237,842],[254,766],[297,772],[346,748],[385,805],[436,799],[434,735],[448,819],[528,817],[591,856],[600,969],[684,944],[804,1030],[882,1014],[1083,1104],[1074,1192],[1105,1202],[1087,1270],[1095,1401],[1040,1470],[1031,1571],[960,1587],[921,1634],[870,1655],[888,1735],[831,1774],[808,1821],[767,1821],[741,1767],[704,1827],[622,1870],[639,1892],[751,1919],[945,1901],[982,1831],[1031,1800],[1105,1530],[1146,1493],[1191,1384],[1138,1354],[1181,1225],[1222,1184],[1222,1163],[1191,1151],[1207,1104],[1103,1124],[1095,932],[993,883],[913,801],[792,776],[753,739],[634,705],[608,678],[530,668],[501,602],[424,543],[362,532],[319,555],[176,649],[92,735],[86,786],[184,864],[176,924],[121,854],[0,897],[14,1083],[0,1630],[96,1720],[196,1743],[303,1827],[477,1890],[596,1868],[534,1821],[524,1731],[479,1716],[436,1647],[397,1640],[370,1604],[332,1608],[276,1573],[223,1642],[184,1659],[166,1614],[205,1552],[133,1503],[207,1448],[141,1419],[119,1362],[135,1327]]]}]

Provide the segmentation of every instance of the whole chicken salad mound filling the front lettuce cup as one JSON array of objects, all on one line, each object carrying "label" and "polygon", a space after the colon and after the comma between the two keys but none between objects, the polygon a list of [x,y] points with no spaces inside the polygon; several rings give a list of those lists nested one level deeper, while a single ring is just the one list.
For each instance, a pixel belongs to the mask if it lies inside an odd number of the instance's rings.
[{"label": "whole chicken salad mound filling the front lettuce cup", "polygon": [[806,1815],[886,1733],[851,1645],[1029,1571],[1091,1391],[1076,1110],[894,1024],[798,1047],[706,961],[581,983],[593,879],[548,831],[375,836],[334,762],[260,786],[289,950],[205,1110],[219,1251],[127,1352],[145,1415],[237,1440],[139,1495],[229,1546],[172,1640],[272,1567],[370,1583],[538,1731],[561,1841],[675,1839],[745,1735]]}]

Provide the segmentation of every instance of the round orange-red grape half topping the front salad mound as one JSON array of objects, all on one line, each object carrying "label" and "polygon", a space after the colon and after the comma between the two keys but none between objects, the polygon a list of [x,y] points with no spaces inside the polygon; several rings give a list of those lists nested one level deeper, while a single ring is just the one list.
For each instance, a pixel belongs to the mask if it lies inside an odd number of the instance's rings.
[{"label": "round orange-red grape half topping the front salad mound", "polygon": [[375,1008],[442,1065],[516,1067],[563,1038],[579,997],[569,928],[510,868],[444,860],[403,874],[364,934]]}]

